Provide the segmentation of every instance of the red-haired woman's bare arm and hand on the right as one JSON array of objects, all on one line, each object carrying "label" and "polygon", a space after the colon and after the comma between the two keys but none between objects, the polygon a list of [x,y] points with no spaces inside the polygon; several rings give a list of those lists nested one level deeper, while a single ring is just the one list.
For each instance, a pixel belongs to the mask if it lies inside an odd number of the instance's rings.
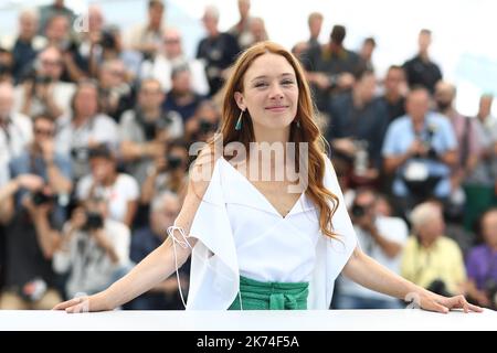
[{"label": "red-haired woman's bare arm and hand on the right", "polygon": [[343,268],[343,274],[371,290],[402,300],[415,300],[425,310],[444,313],[455,308],[462,308],[465,312],[482,311],[482,308],[469,304],[463,296],[442,297],[403,279],[374,261],[359,248],[353,250]]}]

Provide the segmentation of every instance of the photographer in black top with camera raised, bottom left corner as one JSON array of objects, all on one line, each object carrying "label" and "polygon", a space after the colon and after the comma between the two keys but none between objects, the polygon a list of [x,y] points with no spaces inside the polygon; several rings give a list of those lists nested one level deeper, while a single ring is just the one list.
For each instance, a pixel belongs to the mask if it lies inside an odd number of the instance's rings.
[{"label": "photographer in black top with camera raised, bottom left corner", "polygon": [[50,310],[61,300],[51,264],[60,240],[54,207],[53,194],[45,186],[24,194],[15,212],[4,220],[6,269],[0,309]]}]

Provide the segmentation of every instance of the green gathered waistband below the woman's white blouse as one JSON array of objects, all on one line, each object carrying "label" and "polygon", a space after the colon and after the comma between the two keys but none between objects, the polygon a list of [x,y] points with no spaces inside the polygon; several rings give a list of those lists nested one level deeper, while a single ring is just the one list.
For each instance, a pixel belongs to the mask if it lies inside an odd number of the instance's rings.
[{"label": "green gathered waistband below the woman's white blouse", "polygon": [[262,282],[240,276],[240,296],[229,310],[306,310],[308,282]]}]

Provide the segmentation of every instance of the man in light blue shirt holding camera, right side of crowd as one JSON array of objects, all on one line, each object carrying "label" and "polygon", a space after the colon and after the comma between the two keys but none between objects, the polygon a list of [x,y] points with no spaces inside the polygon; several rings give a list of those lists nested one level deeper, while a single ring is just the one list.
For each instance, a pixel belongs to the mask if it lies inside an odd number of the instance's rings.
[{"label": "man in light blue shirt holding camera, right side of crowd", "polygon": [[429,111],[426,88],[413,88],[405,109],[389,126],[382,148],[384,170],[395,175],[392,191],[404,212],[431,196],[447,201],[451,168],[457,163],[454,129],[447,118]]}]

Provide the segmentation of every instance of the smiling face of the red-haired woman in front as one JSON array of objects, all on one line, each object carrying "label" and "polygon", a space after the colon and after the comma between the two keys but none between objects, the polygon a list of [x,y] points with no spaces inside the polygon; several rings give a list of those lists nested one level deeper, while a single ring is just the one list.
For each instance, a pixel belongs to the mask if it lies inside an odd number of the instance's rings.
[{"label": "smiling face of the red-haired woman in front", "polygon": [[258,56],[245,73],[243,88],[243,93],[235,93],[235,100],[240,109],[250,113],[255,129],[284,129],[294,120],[297,78],[284,56],[272,53]]}]

